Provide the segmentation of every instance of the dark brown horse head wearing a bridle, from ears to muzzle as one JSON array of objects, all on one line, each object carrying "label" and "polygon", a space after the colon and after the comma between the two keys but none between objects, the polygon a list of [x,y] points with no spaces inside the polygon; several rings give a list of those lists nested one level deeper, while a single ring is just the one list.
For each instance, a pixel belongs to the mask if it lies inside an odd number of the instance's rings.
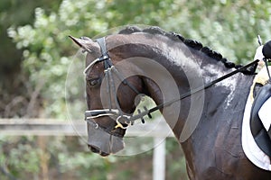
[{"label": "dark brown horse head wearing a bridle, from ears to muzzle", "polygon": [[89,148],[101,156],[117,153],[124,148],[123,137],[130,123],[127,117],[135,111],[139,103],[136,97],[143,92],[142,79],[123,76],[133,67],[126,66],[122,69],[124,72],[119,73],[114,65],[121,59],[103,49],[106,44],[101,45],[86,37],[70,38],[87,51],[84,73],[89,109],[86,112]]}]

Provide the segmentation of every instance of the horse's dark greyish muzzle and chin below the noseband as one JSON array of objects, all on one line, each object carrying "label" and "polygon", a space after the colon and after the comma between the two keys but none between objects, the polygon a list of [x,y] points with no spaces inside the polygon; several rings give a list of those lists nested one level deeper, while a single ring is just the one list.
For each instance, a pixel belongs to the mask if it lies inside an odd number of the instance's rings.
[{"label": "horse's dark greyish muzzle and chin below the noseband", "polygon": [[98,153],[102,157],[107,157],[110,154],[116,154],[118,151],[125,148],[125,143],[122,137],[114,136],[100,128],[96,129],[88,127],[88,145],[89,149]]}]

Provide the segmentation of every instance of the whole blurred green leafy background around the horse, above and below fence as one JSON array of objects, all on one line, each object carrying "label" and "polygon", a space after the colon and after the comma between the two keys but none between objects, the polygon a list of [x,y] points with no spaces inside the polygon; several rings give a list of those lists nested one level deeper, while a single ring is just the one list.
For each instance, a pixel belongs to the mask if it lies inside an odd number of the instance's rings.
[{"label": "whole blurred green leafy background around the horse, above and below fence", "polygon": [[[65,81],[77,51],[70,34],[155,25],[244,64],[254,56],[257,34],[270,40],[270,14],[264,0],[2,0],[0,117],[67,120]],[[166,145],[166,179],[186,179],[179,145],[174,139]],[[0,179],[151,179],[152,153],[101,158],[77,137],[1,134]]]}]

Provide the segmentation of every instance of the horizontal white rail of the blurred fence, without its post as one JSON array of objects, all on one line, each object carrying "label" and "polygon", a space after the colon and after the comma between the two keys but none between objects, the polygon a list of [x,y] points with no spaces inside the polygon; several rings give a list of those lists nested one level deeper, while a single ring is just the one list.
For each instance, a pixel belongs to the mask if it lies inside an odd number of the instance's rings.
[{"label": "horizontal white rail of the blurred fence, without its post", "polygon": [[[54,119],[0,119],[0,134],[21,136],[87,136],[86,121],[61,121]],[[148,137],[173,137],[164,119],[135,124],[126,130],[126,136],[145,134]]]}]

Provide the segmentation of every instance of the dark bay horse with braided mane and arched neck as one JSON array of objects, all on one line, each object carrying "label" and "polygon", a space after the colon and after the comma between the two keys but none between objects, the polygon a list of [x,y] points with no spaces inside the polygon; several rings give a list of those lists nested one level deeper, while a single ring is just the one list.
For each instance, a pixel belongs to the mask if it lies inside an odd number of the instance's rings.
[{"label": "dark bay horse with braided mane and arched neck", "polygon": [[[197,41],[154,27],[128,27],[99,43],[71,39],[88,51],[89,148],[101,156],[124,148],[122,138],[131,121],[125,122],[142,94],[163,104],[237,68]],[[244,71],[159,108],[182,145],[190,179],[271,179],[271,172],[254,166],[241,146],[253,78]]]}]

